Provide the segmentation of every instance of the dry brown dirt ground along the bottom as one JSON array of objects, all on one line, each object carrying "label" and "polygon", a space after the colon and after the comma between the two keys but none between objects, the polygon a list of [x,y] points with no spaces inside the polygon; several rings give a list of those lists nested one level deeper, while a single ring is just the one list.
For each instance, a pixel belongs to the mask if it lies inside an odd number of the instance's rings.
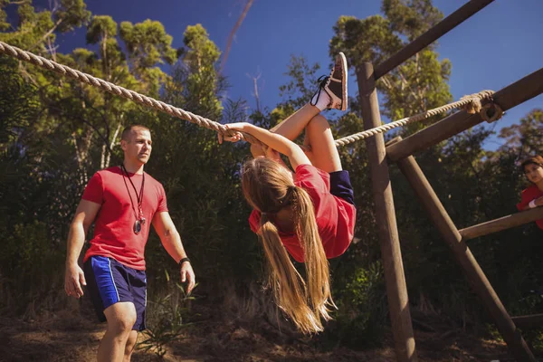
[{"label": "dry brown dirt ground along the bottom", "polygon": [[[415,326],[416,327],[416,326]],[[420,361],[512,361],[506,346],[459,330],[414,330]],[[93,361],[104,325],[65,310],[40,320],[0,318],[0,361]],[[160,359],[153,352],[136,351],[132,361],[395,361],[392,338],[385,346],[365,351],[333,348],[291,338],[271,326],[255,329],[233,321],[195,323],[167,346]]]}]

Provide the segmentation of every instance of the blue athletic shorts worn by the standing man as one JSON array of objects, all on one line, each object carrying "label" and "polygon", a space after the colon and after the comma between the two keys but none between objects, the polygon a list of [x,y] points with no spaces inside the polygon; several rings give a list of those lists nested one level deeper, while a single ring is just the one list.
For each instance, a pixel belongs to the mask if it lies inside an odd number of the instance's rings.
[{"label": "blue athletic shorts worn by the standing man", "polygon": [[136,307],[133,330],[146,329],[147,277],[105,256],[91,256],[83,265],[87,289],[92,305],[101,322],[106,321],[104,310],[119,301],[129,301]]}]

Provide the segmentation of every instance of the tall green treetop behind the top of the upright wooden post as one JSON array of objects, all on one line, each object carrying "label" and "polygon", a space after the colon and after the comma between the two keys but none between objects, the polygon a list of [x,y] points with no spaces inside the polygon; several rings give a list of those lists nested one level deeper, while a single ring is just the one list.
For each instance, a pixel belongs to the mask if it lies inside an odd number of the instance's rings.
[{"label": "tall green treetop behind the top of the upright wooden post", "polygon": [[[376,66],[385,61],[443,17],[431,0],[384,0],[381,10],[384,16],[341,16],[334,26],[330,55],[345,52],[355,73],[363,62]],[[437,59],[436,47],[437,43],[431,44],[377,81],[384,100],[383,115],[402,119],[451,100],[447,84],[451,63]],[[420,128],[410,125],[405,129],[413,132]]]}]

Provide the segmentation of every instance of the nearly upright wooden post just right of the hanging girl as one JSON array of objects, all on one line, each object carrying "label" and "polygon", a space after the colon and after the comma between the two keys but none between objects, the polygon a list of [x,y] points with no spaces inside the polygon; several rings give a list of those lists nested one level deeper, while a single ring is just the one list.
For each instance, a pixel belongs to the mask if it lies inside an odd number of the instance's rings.
[{"label": "nearly upright wooden post just right of the hanging girl", "polygon": [[[381,125],[373,65],[365,62],[357,68],[358,91],[364,128]],[[376,220],[385,268],[386,295],[395,340],[395,354],[400,362],[416,361],[413,325],[405,287],[404,264],[395,220],[394,200],[386,163],[383,134],[366,139],[370,173],[376,202]]]}]

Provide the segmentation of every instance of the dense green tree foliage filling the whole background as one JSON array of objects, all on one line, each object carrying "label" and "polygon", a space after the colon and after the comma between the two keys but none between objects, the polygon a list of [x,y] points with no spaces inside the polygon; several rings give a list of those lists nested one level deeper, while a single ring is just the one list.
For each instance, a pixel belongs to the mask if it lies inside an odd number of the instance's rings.
[{"label": "dense green tree foliage filling the whole background", "polygon": [[[223,122],[251,119],[270,128],[305,104],[316,89],[320,65],[292,56],[286,64],[288,81],[279,89],[281,102],[271,110],[252,111],[245,100],[226,97],[228,81],[217,71],[221,50],[201,24],[187,26],[183,46],[175,49],[172,36],[157,21],[118,24],[107,14],[90,14],[82,0],[53,4],[50,10],[36,11],[31,1],[0,0],[0,39]],[[7,16],[12,14],[9,7],[16,7],[16,24]],[[384,0],[382,14],[338,19],[330,56],[345,52],[356,74],[362,62],[383,62],[442,16],[430,0]],[[87,44],[56,52],[57,37],[82,26]],[[387,118],[403,118],[451,100],[451,63],[440,61],[436,50],[433,43],[378,81]],[[171,65],[168,71],[164,64]],[[328,114],[336,138],[362,129],[356,94],[352,96],[351,111]],[[29,313],[36,304],[52,309],[65,305],[59,291],[68,225],[90,176],[121,159],[119,130],[129,123],[152,131],[153,157],[146,169],[164,184],[170,214],[194,263],[200,283],[194,303],[208,300],[237,309],[243,318],[268,313],[270,301],[259,287],[262,252],[247,227],[250,210],[239,184],[247,145],[219,146],[207,129],[5,57],[0,57],[0,233],[5,235],[0,311]],[[543,111],[537,109],[501,129],[503,145],[496,150],[484,147],[492,130],[479,127],[417,155],[459,228],[516,211],[519,193],[527,186],[519,161],[541,152],[542,125]],[[380,339],[386,294],[366,144],[357,142],[339,152],[355,188],[357,229],[348,252],[330,261],[339,310],[321,340],[360,347],[356,336],[365,336],[367,345]],[[414,315],[466,329],[481,326],[486,319],[481,303],[405,178],[394,166],[390,171]],[[526,298],[543,280],[540,237],[541,231],[528,224],[469,244],[515,314],[543,308],[538,299]],[[165,275],[175,278],[176,264],[154,233],[146,256],[153,281],[149,296],[162,300],[169,288]],[[247,313],[246,305],[259,310]]]}]

